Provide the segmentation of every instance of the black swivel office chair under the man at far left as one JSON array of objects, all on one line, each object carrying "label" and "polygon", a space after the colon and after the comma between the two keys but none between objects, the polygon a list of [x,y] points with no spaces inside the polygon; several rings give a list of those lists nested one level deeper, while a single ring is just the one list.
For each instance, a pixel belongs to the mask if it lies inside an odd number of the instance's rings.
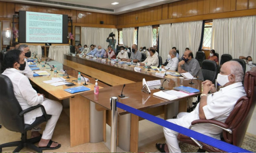
[{"label": "black swivel office chair under the man at far left", "polygon": [[[42,149],[34,145],[34,143],[40,141],[41,137],[27,139],[27,131],[47,121],[51,118],[51,115],[46,114],[45,108],[41,104],[22,110],[14,95],[12,81],[7,76],[0,74],[0,84],[0,123],[10,131],[21,133],[21,141],[0,144],[0,153],[2,153],[2,148],[11,146],[17,146],[13,151],[14,153],[19,152],[24,147],[41,153]],[[43,116],[36,118],[36,121],[31,125],[25,124],[24,114],[37,108],[41,108]]]}]

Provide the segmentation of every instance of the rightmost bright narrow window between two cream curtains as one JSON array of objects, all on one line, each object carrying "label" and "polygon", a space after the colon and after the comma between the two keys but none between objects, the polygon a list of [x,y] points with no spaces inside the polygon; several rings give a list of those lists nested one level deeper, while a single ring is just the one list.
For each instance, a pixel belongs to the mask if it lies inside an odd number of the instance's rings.
[{"label": "rightmost bright narrow window between two cream curtains", "polygon": [[205,21],[203,49],[211,49],[211,30],[212,30],[212,21]]}]

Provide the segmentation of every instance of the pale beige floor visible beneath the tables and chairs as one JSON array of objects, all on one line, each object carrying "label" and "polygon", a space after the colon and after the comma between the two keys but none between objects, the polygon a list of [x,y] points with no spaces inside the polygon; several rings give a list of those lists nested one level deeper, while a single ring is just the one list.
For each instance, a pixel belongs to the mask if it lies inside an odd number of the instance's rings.
[{"label": "pale beige floor visible beneath the tables and chairs", "polygon": [[[41,125],[42,129],[44,128],[45,123]],[[20,133],[11,132],[5,127],[0,128],[0,144],[10,142],[10,141],[19,141]],[[28,137],[30,137],[30,132],[28,132]],[[98,143],[86,143],[81,144],[75,147],[70,147],[69,141],[69,116],[66,115],[65,111],[62,111],[62,114],[59,118],[57,126],[55,127],[55,132],[53,134],[52,140],[57,141],[62,144],[59,149],[44,152],[110,152],[110,127],[107,126],[107,142],[98,142]],[[162,127],[156,125],[150,121],[142,120],[139,123],[139,148],[138,152],[159,152],[155,144],[157,142],[164,143],[164,134]],[[246,148],[250,151],[256,152],[256,139],[254,135],[246,135],[243,143],[243,148]],[[2,148],[2,152],[12,152],[15,147]],[[182,152],[196,152],[197,147],[191,146],[189,144],[180,143],[180,148]],[[127,152],[123,151],[121,148],[117,147],[117,152]],[[33,150],[28,148],[23,148],[20,152],[33,152]]]}]

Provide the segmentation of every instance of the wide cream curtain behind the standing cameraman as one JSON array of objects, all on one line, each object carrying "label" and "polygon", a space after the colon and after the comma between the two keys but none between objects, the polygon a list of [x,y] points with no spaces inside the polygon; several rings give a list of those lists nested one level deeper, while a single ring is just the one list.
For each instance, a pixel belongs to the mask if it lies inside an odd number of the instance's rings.
[{"label": "wide cream curtain behind the standing cameraman", "polygon": [[107,37],[109,37],[109,33],[113,32],[116,35],[116,45],[117,45],[117,29],[114,28],[90,28],[90,27],[82,27],[81,28],[81,44],[82,46],[87,44],[90,47],[91,44],[95,44],[96,46],[102,46],[102,49],[107,49],[109,45],[106,42]]}]

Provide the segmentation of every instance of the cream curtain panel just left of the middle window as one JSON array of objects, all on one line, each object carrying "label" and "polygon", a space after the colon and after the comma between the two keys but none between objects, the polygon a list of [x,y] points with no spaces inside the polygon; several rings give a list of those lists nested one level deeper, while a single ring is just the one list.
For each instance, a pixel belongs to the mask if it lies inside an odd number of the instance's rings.
[{"label": "cream curtain panel just left of the middle window", "polygon": [[138,49],[140,49],[140,47],[143,47],[143,46],[146,46],[147,49],[153,46],[152,33],[153,33],[152,26],[139,27]]}]

